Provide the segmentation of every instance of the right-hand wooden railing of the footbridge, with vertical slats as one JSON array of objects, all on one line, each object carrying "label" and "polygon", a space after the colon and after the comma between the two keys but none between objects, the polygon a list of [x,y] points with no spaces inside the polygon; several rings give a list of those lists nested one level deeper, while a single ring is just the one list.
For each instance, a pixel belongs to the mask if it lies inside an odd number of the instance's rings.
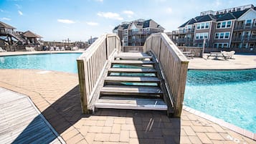
[{"label": "right-hand wooden railing of the footbridge, with vertical slats", "polygon": [[151,34],[143,46],[144,52],[153,52],[163,70],[163,77],[174,108],[174,117],[181,116],[189,61],[164,33]]}]

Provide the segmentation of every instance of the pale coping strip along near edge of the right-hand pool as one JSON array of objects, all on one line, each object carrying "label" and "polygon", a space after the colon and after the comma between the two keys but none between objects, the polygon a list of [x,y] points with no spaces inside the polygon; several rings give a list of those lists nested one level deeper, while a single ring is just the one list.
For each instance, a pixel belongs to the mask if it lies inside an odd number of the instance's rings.
[{"label": "pale coping strip along near edge of the right-hand pool", "polygon": [[188,107],[186,105],[183,105],[183,110],[186,110],[187,112],[191,112],[194,115],[197,115],[199,117],[202,117],[206,120],[212,121],[213,123],[217,123],[218,125],[221,125],[225,128],[228,128],[229,130],[232,130],[236,133],[239,133],[240,135],[243,135],[247,138],[250,138],[252,140],[256,140],[256,133],[252,133],[249,130],[245,130],[243,128],[238,127],[237,125],[233,125],[231,123],[227,123],[222,119],[219,119],[217,117],[213,117],[212,115],[208,115],[204,112],[200,112],[199,110],[194,110],[191,107]]}]

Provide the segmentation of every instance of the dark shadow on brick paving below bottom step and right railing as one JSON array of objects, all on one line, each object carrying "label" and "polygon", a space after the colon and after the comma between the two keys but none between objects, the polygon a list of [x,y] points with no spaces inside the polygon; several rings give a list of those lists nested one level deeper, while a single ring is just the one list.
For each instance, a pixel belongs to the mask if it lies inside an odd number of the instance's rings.
[{"label": "dark shadow on brick paving below bottom step and right railing", "polygon": [[181,119],[168,117],[166,111],[100,109],[95,115],[125,117],[126,125],[134,126],[136,132],[136,135],[131,134],[131,128],[130,138],[138,138],[140,144],[180,143]]}]

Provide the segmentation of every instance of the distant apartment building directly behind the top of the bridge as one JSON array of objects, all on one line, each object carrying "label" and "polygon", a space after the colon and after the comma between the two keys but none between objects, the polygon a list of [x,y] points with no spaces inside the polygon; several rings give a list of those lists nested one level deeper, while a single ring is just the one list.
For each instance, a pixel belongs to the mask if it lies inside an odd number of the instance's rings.
[{"label": "distant apartment building directly behind the top of the bridge", "polygon": [[150,34],[163,31],[164,28],[152,19],[123,22],[113,29],[113,33],[118,34],[124,46],[143,46]]}]

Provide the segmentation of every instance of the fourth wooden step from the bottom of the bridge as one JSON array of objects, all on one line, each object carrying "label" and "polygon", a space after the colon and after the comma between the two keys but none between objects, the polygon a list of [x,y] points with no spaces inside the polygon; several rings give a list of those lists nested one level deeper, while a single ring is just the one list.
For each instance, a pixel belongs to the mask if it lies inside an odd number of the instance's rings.
[{"label": "fourth wooden step from the bottom of the bridge", "polygon": [[110,68],[108,72],[132,72],[132,73],[146,73],[157,72],[156,69],[129,69],[129,68]]}]

